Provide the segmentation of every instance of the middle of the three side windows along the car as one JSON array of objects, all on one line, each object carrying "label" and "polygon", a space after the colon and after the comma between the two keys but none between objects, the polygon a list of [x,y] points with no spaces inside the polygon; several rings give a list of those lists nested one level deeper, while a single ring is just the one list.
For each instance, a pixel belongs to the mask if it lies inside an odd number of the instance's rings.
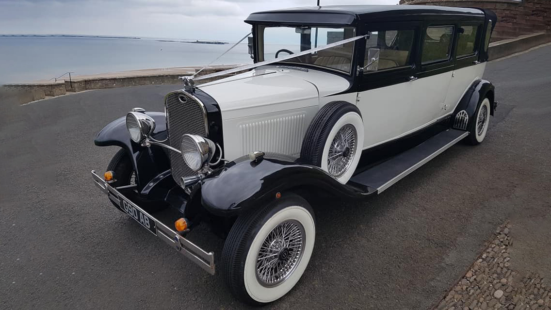
[{"label": "middle of the three side windows along the car", "polygon": [[451,53],[453,26],[433,26],[426,28],[423,38],[421,62],[429,63],[448,60]]}]

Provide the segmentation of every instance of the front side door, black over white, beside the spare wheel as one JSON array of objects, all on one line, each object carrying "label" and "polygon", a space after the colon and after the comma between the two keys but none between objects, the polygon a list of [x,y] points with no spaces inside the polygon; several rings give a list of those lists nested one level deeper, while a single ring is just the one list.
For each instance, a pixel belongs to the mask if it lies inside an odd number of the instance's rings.
[{"label": "front side door, black over white, beside the spare wheel", "polygon": [[420,22],[366,24],[370,35],[358,73],[364,148],[393,140],[407,127],[421,26]]}]

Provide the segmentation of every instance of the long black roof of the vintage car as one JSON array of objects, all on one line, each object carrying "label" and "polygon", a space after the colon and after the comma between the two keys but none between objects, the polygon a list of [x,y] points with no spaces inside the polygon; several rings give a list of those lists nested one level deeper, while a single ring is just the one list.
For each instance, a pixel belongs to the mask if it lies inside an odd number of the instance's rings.
[{"label": "long black roof of the vintage car", "polygon": [[249,24],[339,24],[353,25],[358,21],[400,18],[412,19],[427,15],[455,15],[484,17],[484,11],[475,8],[437,6],[372,5],[372,6],[322,6],[269,10],[256,12],[245,20]]}]

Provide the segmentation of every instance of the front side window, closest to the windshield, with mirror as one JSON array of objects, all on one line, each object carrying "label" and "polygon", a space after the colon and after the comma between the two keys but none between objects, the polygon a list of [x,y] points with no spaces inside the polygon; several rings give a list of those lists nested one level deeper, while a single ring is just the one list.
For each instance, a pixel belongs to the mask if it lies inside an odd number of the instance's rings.
[{"label": "front side window, closest to the windshield, with mirror", "polygon": [[372,31],[365,45],[364,73],[410,65],[415,31]]}]

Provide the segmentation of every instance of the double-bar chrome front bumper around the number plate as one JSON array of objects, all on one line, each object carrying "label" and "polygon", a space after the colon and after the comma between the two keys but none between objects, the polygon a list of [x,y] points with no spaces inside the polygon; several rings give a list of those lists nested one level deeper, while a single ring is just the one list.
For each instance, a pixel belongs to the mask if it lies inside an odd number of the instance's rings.
[{"label": "double-bar chrome front bumper around the number plate", "polygon": [[[193,263],[196,263],[201,268],[206,270],[209,274],[214,274],[214,253],[213,252],[206,252],[203,249],[199,248],[197,245],[190,242],[190,240],[187,240],[186,238],[180,236],[179,233],[175,232],[174,230],[170,229],[168,226],[166,226],[163,222],[159,221],[154,216],[150,215],[148,212],[145,212],[141,207],[134,204],[132,201],[127,199],[124,195],[122,195],[116,188],[109,185],[100,175],[96,174],[94,170],[92,170],[92,178],[94,179],[94,183],[101,189],[102,192],[107,194],[109,199],[111,201],[115,202],[115,205],[119,209],[121,209],[121,197],[132,205],[132,207],[138,209],[140,212],[144,213],[145,215],[149,216],[154,222],[156,226],[156,236],[159,237],[164,242],[168,243],[172,248],[175,248],[178,252],[186,256],[187,258],[191,259]],[[121,211],[123,211],[121,209]],[[123,211],[125,212],[125,211]]]}]

